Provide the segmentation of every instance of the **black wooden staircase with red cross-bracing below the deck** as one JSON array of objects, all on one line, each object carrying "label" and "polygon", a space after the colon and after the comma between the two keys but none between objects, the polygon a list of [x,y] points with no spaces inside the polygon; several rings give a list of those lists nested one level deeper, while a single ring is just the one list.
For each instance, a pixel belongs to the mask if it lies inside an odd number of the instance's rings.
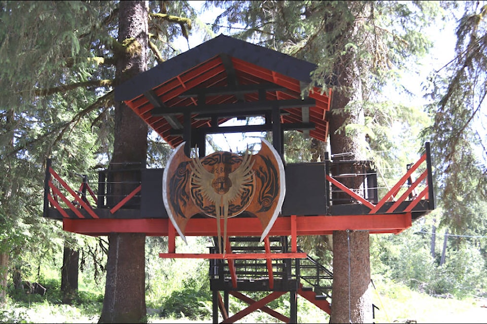
[{"label": "black wooden staircase with red cross-bracing below the deck", "polygon": [[[227,253],[241,254],[242,259],[210,259],[211,290],[214,295],[214,303],[218,303],[218,307],[214,305],[213,322],[218,322],[218,309],[221,311],[225,323],[235,322],[257,309],[284,322],[296,322],[296,296],[298,295],[326,313],[331,313],[332,272],[307,255],[302,259],[259,258],[259,255],[264,256],[265,253],[284,254],[289,252],[287,236],[274,236],[267,239],[268,241],[264,241],[262,244],[259,237],[230,237],[226,245]],[[210,252],[216,253],[217,251],[218,240],[215,238],[215,247],[210,248]],[[249,255],[256,257],[247,258]],[[221,291],[224,292],[225,298],[221,297]],[[242,292],[269,292],[270,294],[255,301],[243,295]],[[288,292],[291,298],[290,317],[266,306],[272,300]],[[229,316],[228,295],[232,295],[250,306]]]}]

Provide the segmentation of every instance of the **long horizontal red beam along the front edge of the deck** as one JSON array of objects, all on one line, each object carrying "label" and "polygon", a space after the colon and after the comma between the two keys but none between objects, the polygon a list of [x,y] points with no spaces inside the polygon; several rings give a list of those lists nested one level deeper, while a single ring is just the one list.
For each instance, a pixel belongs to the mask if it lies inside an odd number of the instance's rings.
[{"label": "long horizontal red beam along the front edge of the deck", "polygon": [[[168,218],[145,219],[63,219],[66,231],[108,235],[119,233],[146,233],[146,235],[167,236]],[[335,230],[369,230],[374,233],[398,233],[412,224],[411,213],[342,215],[342,216],[297,216],[296,235],[326,235]],[[229,218],[228,236],[258,236],[262,224],[256,218]],[[291,217],[277,217],[269,236],[291,235]],[[185,229],[185,236],[217,236],[214,218],[192,218]]]}]

